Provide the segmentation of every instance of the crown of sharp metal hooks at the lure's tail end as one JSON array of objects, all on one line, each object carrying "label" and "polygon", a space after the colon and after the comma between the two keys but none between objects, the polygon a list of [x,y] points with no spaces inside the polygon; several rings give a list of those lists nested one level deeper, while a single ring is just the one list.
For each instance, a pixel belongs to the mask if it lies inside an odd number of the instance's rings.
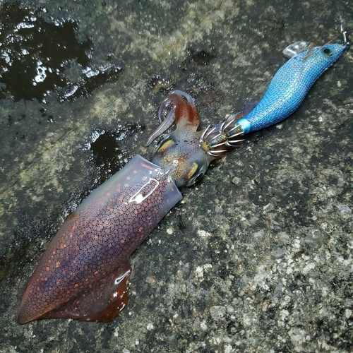
[{"label": "crown of sharp metal hooks at the lure's tail end", "polygon": [[[201,147],[211,157],[223,157],[229,153],[232,148],[240,147],[239,143],[244,139],[238,139],[237,136],[243,133],[241,127],[235,124],[243,116],[243,113],[229,115],[225,121],[210,127],[208,126],[200,138]],[[220,149],[222,148],[222,149]]]}]

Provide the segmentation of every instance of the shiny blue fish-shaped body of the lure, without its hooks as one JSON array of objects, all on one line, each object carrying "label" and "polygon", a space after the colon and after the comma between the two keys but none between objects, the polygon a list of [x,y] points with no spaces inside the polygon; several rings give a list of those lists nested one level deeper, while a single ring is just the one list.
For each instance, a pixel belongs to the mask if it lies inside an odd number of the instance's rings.
[{"label": "shiny blue fish-shaped body of the lure, without its hooks", "polygon": [[245,134],[286,119],[299,107],[313,83],[347,47],[349,44],[326,44],[293,56],[277,71],[261,101],[236,125]]}]

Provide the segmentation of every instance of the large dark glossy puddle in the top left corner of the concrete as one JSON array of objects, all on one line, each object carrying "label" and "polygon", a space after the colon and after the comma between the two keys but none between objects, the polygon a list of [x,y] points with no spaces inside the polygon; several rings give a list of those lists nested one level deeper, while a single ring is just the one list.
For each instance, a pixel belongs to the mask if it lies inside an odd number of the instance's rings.
[{"label": "large dark glossy puddle in the top left corner of the concrete", "polygon": [[37,99],[56,90],[59,100],[88,96],[119,78],[121,68],[91,64],[92,42],[78,42],[74,20],[47,22],[45,8],[33,10],[17,2],[0,13],[0,98],[16,102]]}]

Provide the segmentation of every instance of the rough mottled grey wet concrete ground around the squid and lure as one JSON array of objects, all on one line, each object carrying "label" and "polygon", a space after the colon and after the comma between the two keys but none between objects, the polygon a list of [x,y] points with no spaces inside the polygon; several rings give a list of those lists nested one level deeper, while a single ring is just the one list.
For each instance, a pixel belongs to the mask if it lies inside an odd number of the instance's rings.
[{"label": "rough mottled grey wet concrete ground around the squid and lure", "polygon": [[[90,45],[81,52],[87,62],[61,62],[66,85],[19,97],[1,83],[0,352],[351,352],[352,49],[295,114],[249,136],[183,190],[183,201],[133,253],[130,299],[116,320],[18,325],[16,316],[23,287],[65,217],[133,155],[150,157],[144,143],[170,90],[189,92],[202,126],[215,124],[263,95],[289,43],[320,32],[318,42],[327,42],[340,31],[340,15],[352,35],[353,5],[11,6],[27,11],[27,25],[49,31],[74,23],[78,47]],[[37,85],[52,61],[41,62]],[[114,79],[85,80],[107,66],[117,70]],[[63,100],[75,84],[80,94]]]}]

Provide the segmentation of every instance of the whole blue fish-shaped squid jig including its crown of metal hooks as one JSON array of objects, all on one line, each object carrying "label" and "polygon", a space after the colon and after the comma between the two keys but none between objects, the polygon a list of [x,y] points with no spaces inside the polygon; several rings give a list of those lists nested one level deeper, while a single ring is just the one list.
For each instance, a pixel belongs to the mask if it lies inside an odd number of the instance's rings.
[{"label": "whole blue fish-shaped squid jig including its crown of metal hooks", "polygon": [[[236,136],[261,130],[286,119],[298,109],[321,74],[332,66],[348,47],[349,43],[345,40],[344,44],[311,47],[292,56],[292,59],[277,71],[265,95],[249,114],[233,114],[205,131],[201,136],[203,149],[208,155],[221,157],[229,147],[235,147],[241,141],[234,140]],[[220,149],[222,146],[226,149]]]}]

